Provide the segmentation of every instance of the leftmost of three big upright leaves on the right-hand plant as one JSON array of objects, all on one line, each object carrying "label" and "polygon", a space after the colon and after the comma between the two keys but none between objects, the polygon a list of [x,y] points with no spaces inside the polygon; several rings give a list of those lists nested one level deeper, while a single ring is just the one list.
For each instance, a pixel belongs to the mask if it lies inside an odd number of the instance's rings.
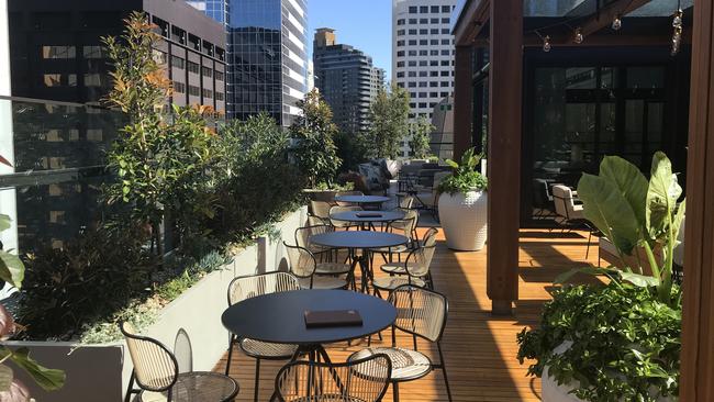
[{"label": "leftmost of three big upright leaves on the right-hand plant", "polygon": [[640,238],[640,226],[617,186],[612,180],[585,174],[578,183],[578,197],[582,200],[585,219],[622,254],[632,255]]}]

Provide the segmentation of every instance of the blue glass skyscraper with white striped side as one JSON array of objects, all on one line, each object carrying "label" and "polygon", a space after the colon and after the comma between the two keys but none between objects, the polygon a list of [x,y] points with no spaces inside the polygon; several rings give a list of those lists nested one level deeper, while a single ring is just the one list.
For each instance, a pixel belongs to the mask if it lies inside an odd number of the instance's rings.
[{"label": "blue glass skyscraper with white striped side", "polygon": [[226,26],[227,116],[267,112],[290,125],[308,90],[308,0],[190,2]]}]

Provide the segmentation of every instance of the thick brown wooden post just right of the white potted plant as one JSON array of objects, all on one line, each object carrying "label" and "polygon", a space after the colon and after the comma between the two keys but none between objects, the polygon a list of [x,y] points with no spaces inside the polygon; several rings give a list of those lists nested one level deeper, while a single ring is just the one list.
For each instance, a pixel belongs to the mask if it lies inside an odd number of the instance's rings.
[{"label": "thick brown wooden post just right of the white potted plant", "polygon": [[494,314],[510,314],[518,299],[523,0],[490,9],[487,292]]}]

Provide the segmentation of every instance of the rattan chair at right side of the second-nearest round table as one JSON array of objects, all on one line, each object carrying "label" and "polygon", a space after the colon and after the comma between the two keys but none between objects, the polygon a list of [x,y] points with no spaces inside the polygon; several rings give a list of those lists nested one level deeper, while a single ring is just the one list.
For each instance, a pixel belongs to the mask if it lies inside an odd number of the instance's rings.
[{"label": "rattan chair at right side of the second-nearest round table", "polygon": [[424,235],[424,241],[406,256],[404,263],[388,263],[381,266],[382,271],[391,276],[372,281],[377,294],[380,290],[391,292],[403,284],[434,288],[429,268],[436,250],[436,228],[431,228]]}]

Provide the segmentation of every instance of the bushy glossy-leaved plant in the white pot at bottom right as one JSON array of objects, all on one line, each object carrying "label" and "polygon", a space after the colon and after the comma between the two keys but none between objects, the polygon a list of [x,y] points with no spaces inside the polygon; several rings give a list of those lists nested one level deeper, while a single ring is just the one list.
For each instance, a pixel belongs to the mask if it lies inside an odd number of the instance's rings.
[{"label": "bushy glossy-leaved plant in the white pot at bottom right", "polygon": [[537,330],[517,336],[518,361],[536,359],[529,375],[574,386],[585,401],[658,401],[677,395],[681,304],[655,288],[612,281],[556,290]]}]

